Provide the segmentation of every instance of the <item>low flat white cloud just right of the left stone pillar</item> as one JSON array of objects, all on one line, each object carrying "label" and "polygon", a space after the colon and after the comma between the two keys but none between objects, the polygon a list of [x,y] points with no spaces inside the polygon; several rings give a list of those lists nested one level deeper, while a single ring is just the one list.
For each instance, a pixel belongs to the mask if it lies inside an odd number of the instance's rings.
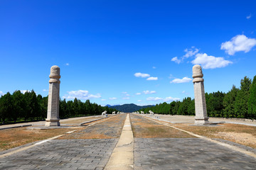
[{"label": "low flat white cloud just right of the left stone pillar", "polygon": [[78,90],[78,91],[68,91],[68,94],[63,96],[63,98],[67,99],[90,99],[90,98],[101,98],[100,94],[89,94],[89,91],[84,91],[84,90]]}]

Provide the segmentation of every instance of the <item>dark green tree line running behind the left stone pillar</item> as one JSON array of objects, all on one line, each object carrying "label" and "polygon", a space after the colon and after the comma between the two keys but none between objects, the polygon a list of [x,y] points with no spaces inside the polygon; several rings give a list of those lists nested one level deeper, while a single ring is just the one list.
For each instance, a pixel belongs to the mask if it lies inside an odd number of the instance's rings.
[{"label": "dark green tree line running behind the left stone pillar", "polygon": [[[47,117],[48,96],[36,95],[35,91],[9,92],[0,98],[0,122],[16,123],[33,120],[45,120]],[[87,115],[100,115],[103,111],[112,113],[114,108],[103,107],[89,100],[82,102],[77,98],[74,101],[60,99],[60,118],[73,118]]]}]

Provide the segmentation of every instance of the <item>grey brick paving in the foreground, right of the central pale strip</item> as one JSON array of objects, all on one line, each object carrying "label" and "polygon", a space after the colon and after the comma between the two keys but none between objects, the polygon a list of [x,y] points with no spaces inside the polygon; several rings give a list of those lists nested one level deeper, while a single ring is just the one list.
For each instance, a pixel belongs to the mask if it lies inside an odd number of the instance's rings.
[{"label": "grey brick paving in the foreground, right of the central pale strip", "polygon": [[198,138],[135,138],[134,169],[255,169],[256,159]]}]

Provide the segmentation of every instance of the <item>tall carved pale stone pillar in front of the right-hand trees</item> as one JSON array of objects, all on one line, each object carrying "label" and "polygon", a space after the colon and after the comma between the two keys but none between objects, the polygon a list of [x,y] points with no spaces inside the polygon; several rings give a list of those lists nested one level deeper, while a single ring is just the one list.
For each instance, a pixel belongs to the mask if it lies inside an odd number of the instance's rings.
[{"label": "tall carved pale stone pillar in front of the right-hand trees", "polygon": [[206,96],[203,86],[203,72],[200,65],[193,66],[193,86],[195,93],[195,109],[196,109],[196,117],[195,124],[196,125],[205,125],[208,124],[208,116],[206,110]]}]

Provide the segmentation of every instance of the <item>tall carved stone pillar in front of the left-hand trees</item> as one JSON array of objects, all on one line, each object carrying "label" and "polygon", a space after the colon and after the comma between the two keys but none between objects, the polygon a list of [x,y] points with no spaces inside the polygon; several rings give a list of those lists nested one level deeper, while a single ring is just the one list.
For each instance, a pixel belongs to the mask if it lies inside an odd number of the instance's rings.
[{"label": "tall carved stone pillar in front of the left-hand trees", "polygon": [[60,67],[56,65],[51,67],[49,77],[50,80],[46,126],[59,126]]}]

